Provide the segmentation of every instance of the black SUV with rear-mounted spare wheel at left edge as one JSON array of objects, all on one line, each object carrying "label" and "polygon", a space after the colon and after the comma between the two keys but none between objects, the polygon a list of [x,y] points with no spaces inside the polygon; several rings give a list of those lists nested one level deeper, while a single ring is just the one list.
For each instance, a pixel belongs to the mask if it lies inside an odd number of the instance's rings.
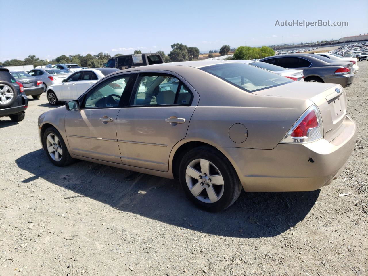
[{"label": "black SUV with rear-mounted spare wheel at left edge", "polygon": [[8,69],[0,67],[0,117],[9,116],[13,122],[22,121],[27,107],[23,85],[15,81]]}]

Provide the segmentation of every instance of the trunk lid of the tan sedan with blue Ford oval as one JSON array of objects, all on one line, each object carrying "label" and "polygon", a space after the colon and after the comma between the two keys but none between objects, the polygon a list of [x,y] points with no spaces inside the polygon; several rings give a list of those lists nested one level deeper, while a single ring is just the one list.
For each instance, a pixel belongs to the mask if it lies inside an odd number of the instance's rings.
[{"label": "trunk lid of the tan sedan with blue Ford oval", "polygon": [[294,81],[253,94],[311,100],[321,112],[324,138],[330,142],[342,131],[346,117],[346,92],[339,84]]}]

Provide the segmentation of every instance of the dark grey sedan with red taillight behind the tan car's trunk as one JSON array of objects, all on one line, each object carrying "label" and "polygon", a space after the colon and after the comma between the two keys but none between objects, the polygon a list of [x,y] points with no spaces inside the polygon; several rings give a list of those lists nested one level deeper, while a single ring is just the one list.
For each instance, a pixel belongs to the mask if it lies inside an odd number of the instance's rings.
[{"label": "dark grey sedan with red taillight behind the tan car's trunk", "polygon": [[316,54],[288,54],[266,57],[261,61],[285,68],[302,69],[304,81],[328,82],[347,87],[354,80],[354,73],[351,71],[353,63],[335,61]]}]

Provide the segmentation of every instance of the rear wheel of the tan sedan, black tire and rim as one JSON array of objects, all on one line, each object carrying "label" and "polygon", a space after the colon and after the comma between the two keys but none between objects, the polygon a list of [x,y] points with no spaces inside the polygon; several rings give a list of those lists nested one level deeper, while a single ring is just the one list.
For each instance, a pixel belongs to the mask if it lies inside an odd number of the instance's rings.
[{"label": "rear wheel of the tan sedan, black tire and rim", "polygon": [[208,146],[184,155],[179,180],[187,197],[201,209],[219,212],[239,197],[242,186],[230,161]]}]

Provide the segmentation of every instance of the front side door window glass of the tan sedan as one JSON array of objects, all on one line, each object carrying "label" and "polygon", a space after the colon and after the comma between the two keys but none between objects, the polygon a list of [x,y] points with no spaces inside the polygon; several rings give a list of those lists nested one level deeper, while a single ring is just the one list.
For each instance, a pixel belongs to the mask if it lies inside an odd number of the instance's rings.
[{"label": "front side door window glass of the tan sedan", "polygon": [[86,96],[84,108],[118,107],[130,75],[113,78],[90,91]]}]

